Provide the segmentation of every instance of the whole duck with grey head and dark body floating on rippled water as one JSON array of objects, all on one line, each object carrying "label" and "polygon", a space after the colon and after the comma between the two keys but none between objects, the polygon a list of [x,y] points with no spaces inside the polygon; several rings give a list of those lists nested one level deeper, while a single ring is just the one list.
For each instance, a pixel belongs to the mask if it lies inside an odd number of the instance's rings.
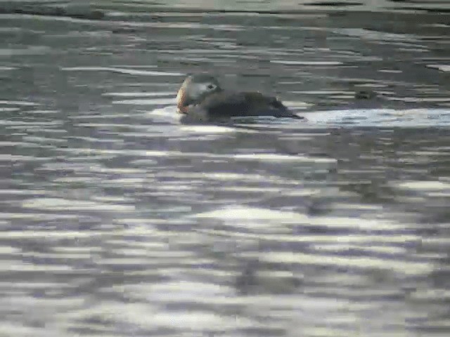
[{"label": "whole duck with grey head and dark body floating on rippled water", "polygon": [[276,97],[259,92],[226,91],[208,74],[191,75],[184,80],[176,95],[176,107],[191,121],[257,116],[303,119]]}]

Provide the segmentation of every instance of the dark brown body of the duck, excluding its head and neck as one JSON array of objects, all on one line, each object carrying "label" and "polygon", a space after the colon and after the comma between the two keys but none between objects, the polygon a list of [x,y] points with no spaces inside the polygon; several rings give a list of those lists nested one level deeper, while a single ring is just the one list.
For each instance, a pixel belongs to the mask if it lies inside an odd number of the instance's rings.
[{"label": "dark brown body of the duck, excluding its head and neck", "polygon": [[303,119],[288,110],[280,100],[258,92],[220,91],[208,95],[197,106],[208,119],[273,116]]}]

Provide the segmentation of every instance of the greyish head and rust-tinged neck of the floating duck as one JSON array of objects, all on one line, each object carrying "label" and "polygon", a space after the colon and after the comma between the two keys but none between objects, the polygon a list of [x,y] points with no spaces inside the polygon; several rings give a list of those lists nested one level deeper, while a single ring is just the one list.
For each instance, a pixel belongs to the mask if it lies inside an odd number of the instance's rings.
[{"label": "greyish head and rust-tinged neck of the floating duck", "polygon": [[176,95],[176,111],[186,114],[190,105],[200,103],[208,95],[221,91],[219,81],[208,74],[195,74],[186,77]]}]

